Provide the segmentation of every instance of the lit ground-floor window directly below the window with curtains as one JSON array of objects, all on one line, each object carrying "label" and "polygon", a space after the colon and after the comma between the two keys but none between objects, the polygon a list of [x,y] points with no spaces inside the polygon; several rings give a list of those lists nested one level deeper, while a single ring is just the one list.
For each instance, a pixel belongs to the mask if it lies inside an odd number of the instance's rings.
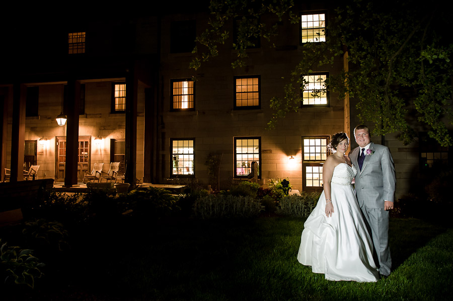
[{"label": "lit ground-floor window directly below the window with curtains", "polygon": [[194,139],[171,139],[172,176],[194,174]]}]

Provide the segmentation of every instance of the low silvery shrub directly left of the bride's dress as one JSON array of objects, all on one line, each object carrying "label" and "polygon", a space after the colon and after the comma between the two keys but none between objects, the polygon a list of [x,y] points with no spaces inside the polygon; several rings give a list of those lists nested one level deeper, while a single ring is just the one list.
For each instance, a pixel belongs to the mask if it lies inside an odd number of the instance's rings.
[{"label": "low silvery shrub directly left of the bride's dress", "polygon": [[301,192],[280,199],[277,213],[291,217],[308,217],[318,203],[320,192]]}]

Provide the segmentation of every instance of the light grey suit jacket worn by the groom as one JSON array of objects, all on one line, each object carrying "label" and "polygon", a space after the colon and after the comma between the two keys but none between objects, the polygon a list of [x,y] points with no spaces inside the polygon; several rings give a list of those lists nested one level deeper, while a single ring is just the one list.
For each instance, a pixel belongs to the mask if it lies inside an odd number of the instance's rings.
[{"label": "light grey suit jacket worn by the groom", "polygon": [[396,178],[393,158],[387,146],[371,142],[369,149],[373,153],[365,156],[362,170],[357,163],[361,148],[356,147],[349,154],[352,164],[357,168],[357,200],[360,207],[365,205],[370,209],[384,208],[384,200],[394,200]]}]

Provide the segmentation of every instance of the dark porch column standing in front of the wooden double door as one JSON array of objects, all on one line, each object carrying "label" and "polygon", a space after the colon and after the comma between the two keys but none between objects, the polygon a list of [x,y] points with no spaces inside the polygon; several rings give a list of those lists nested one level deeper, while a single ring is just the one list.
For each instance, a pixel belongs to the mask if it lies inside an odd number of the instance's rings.
[{"label": "dark porch column standing in front of the wooden double door", "polygon": [[67,81],[66,165],[64,187],[77,186],[79,151],[80,81]]}]

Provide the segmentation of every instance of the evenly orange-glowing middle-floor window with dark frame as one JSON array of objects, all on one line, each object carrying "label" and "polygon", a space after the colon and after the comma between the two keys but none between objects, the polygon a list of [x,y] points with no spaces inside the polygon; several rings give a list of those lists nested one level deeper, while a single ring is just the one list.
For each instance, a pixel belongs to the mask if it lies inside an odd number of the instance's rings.
[{"label": "evenly orange-glowing middle-floor window with dark frame", "polygon": [[260,77],[235,77],[235,109],[260,108]]}]

